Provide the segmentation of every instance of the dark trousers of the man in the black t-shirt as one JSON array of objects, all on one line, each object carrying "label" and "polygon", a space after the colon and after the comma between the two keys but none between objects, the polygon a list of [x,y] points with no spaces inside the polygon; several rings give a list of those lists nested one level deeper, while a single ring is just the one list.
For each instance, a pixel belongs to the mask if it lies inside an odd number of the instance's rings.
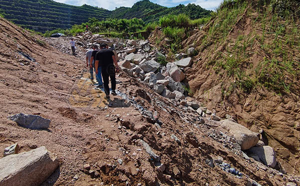
[{"label": "dark trousers of the man in the black t-shirt", "polygon": [[103,85],[104,85],[104,92],[106,95],[109,95],[109,77],[111,81],[111,89],[115,90],[115,71],[114,71],[114,65],[108,65],[108,66],[102,66],[102,78],[103,78]]}]

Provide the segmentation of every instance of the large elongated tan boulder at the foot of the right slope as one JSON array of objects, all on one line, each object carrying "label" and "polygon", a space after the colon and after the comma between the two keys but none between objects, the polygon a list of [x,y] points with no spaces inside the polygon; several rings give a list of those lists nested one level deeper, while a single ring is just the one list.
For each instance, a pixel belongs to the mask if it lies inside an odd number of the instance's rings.
[{"label": "large elongated tan boulder at the foot of the right slope", "polygon": [[221,127],[235,137],[241,150],[249,149],[258,142],[257,133],[238,123],[225,119],[222,120]]}]

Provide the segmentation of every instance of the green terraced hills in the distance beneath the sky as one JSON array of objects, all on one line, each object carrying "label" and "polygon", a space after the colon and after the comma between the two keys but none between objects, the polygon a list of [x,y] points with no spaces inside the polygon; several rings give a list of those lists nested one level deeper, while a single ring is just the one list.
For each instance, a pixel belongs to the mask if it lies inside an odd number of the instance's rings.
[{"label": "green terraced hills in the distance beneath the sky", "polygon": [[73,24],[88,21],[88,17],[99,20],[136,17],[151,22],[165,14],[185,13],[195,19],[209,15],[210,11],[195,4],[179,4],[168,8],[149,0],[138,1],[131,8],[119,7],[112,11],[86,4],[68,5],[53,0],[0,0],[0,13],[16,24],[43,32],[56,28],[70,28]]}]

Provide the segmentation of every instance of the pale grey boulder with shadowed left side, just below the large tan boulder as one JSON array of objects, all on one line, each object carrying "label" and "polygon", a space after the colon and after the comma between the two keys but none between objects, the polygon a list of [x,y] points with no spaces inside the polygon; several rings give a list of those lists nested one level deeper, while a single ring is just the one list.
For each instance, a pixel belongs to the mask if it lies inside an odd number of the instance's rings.
[{"label": "pale grey boulder with shadowed left side, just below the large tan boulder", "polygon": [[269,166],[274,168],[276,166],[276,152],[270,146],[261,146],[261,147],[251,147],[249,149],[250,152],[256,154],[260,161]]}]

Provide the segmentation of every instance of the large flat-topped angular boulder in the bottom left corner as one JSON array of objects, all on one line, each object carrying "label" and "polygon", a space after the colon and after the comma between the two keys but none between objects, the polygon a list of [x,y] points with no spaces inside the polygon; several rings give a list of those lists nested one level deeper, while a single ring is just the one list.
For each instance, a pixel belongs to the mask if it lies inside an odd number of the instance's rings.
[{"label": "large flat-topped angular boulder in the bottom left corner", "polygon": [[1,186],[35,186],[46,180],[59,165],[44,146],[0,159]]}]

